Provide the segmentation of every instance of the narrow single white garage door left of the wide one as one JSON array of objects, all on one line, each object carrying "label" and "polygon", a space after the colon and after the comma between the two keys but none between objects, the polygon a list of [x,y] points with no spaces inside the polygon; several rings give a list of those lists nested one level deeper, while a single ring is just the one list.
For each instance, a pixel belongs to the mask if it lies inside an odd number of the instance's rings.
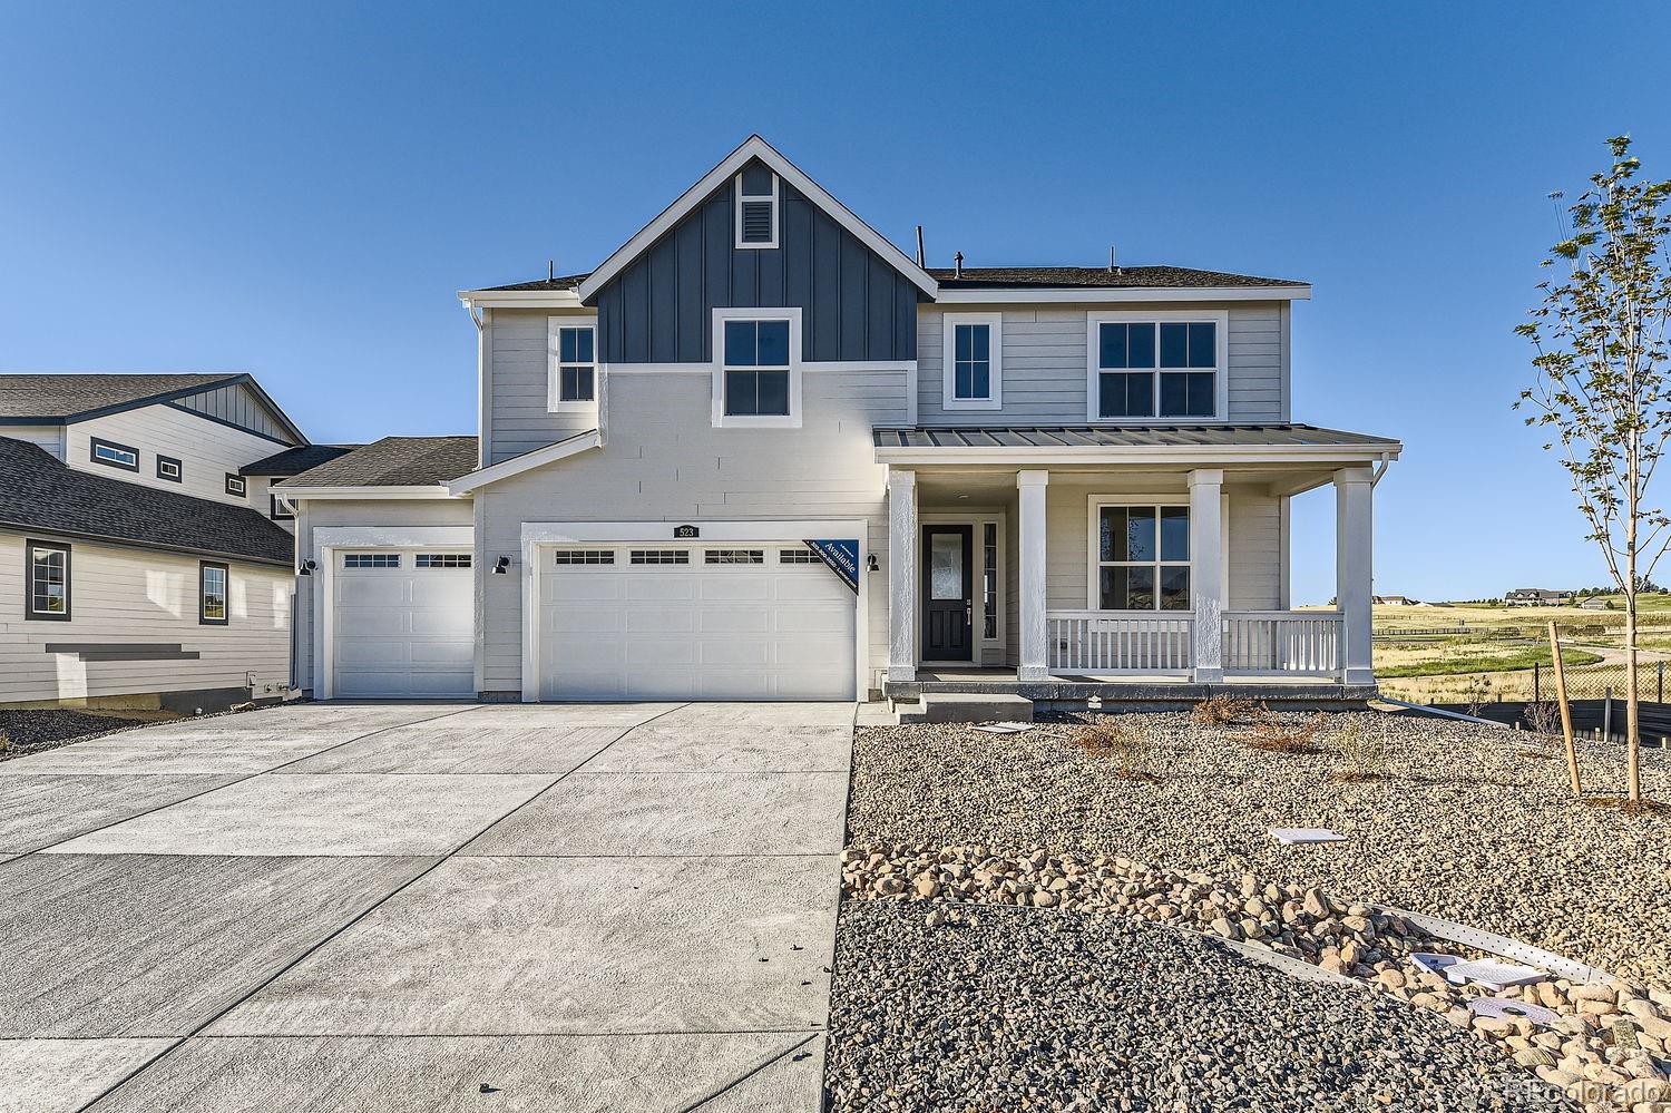
[{"label": "narrow single white garage door left of the wide one", "polygon": [[470,553],[336,553],[338,699],[453,699],[476,694]]}]

